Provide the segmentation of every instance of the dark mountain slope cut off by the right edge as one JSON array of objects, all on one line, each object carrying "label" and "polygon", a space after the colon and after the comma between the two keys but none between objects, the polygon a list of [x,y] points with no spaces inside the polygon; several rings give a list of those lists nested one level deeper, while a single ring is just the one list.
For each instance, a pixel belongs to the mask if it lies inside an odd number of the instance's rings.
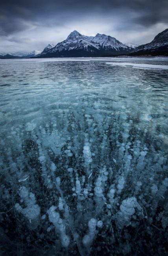
[{"label": "dark mountain slope cut off by the right edge", "polygon": [[168,28],[146,45],[140,45],[133,50],[133,55],[151,54],[151,55],[168,55]]}]

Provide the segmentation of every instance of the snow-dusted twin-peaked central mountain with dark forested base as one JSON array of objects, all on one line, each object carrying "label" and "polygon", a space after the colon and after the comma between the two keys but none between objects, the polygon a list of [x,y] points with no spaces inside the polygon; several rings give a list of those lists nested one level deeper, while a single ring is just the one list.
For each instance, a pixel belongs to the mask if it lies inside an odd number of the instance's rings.
[{"label": "snow-dusted twin-peaked central mountain with dark forested base", "polygon": [[132,50],[132,47],[109,35],[98,33],[95,37],[89,37],[74,30],[64,41],[47,52],[43,51],[38,58],[111,56],[128,54]]}]

